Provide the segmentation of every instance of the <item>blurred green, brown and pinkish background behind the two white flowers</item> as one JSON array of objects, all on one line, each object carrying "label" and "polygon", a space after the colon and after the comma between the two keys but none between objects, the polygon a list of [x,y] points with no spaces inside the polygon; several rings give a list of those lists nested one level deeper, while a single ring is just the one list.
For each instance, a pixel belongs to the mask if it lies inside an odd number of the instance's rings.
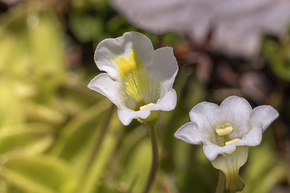
[{"label": "blurred green, brown and pinkish background behind the two white flowers", "polygon": [[[147,128],[128,126],[87,88],[94,51],[138,31],[171,46],[177,106],[158,122],[152,193],[215,192],[202,145],[173,135],[202,101],[237,95],[280,116],[249,148],[242,192],[290,192],[290,3],[217,0],[1,0],[0,192],[141,192],[151,167]],[[228,191],[225,191],[228,192]]]}]

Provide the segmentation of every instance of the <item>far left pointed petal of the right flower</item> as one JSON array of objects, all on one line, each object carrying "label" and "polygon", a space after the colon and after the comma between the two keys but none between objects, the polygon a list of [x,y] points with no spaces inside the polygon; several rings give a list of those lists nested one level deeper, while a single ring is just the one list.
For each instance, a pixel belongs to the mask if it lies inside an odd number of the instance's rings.
[{"label": "far left pointed petal of the right flower", "polygon": [[200,145],[202,144],[202,134],[193,122],[188,122],[182,125],[174,134],[178,139],[187,143]]}]

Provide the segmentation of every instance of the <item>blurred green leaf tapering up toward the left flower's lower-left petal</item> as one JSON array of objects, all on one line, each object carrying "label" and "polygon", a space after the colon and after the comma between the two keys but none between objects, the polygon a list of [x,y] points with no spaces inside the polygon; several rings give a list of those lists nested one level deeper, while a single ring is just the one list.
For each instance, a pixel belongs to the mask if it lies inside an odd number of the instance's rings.
[{"label": "blurred green leaf tapering up toward the left flower's lower-left petal", "polygon": [[92,138],[97,139],[98,129],[102,126],[109,105],[110,101],[105,98],[75,116],[62,129],[51,153],[74,161]]}]

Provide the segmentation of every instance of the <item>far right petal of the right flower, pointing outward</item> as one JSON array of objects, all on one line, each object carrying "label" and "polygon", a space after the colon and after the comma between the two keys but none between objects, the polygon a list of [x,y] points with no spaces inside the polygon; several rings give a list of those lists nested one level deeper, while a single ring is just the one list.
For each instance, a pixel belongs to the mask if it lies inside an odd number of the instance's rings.
[{"label": "far right petal of the right flower, pointing outward", "polygon": [[252,110],[250,120],[253,124],[260,124],[264,132],[278,116],[278,111],[270,105],[261,105]]}]

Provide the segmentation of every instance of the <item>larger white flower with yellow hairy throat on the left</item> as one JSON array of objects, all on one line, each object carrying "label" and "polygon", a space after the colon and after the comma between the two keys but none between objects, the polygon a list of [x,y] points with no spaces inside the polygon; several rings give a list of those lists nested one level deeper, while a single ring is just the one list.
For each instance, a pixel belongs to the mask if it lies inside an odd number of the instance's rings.
[{"label": "larger white flower with yellow hairy throat on the left", "polygon": [[172,48],[154,50],[144,34],[126,32],[122,37],[100,42],[95,62],[99,70],[107,73],[96,76],[88,87],[117,105],[124,125],[133,119],[146,119],[151,111],[175,108],[172,85],[178,66]]}]

